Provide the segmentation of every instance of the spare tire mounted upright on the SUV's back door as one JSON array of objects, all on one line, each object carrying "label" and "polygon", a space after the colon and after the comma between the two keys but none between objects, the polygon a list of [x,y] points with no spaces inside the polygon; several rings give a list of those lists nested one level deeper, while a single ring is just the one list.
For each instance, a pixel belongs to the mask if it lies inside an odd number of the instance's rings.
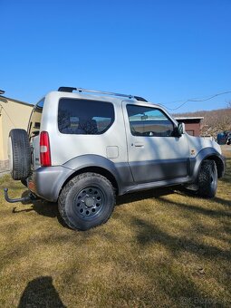
[{"label": "spare tire mounted upright on the SUV's back door", "polygon": [[12,178],[21,180],[28,178],[31,173],[31,147],[25,130],[10,131],[8,155]]}]

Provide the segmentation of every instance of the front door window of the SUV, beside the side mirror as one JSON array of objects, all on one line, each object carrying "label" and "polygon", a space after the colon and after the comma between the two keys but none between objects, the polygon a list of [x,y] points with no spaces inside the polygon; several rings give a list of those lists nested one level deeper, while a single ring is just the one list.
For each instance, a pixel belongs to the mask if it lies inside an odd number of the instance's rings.
[{"label": "front door window of the SUV, beside the side mirror", "polygon": [[173,123],[157,108],[127,105],[130,132],[133,136],[170,137]]}]

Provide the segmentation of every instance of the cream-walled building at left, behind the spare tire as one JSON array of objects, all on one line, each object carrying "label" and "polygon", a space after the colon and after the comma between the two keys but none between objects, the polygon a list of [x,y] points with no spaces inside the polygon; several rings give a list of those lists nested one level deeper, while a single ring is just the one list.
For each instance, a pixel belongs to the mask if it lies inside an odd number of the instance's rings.
[{"label": "cream-walled building at left, behind the spare tire", "polygon": [[10,130],[26,130],[32,109],[32,104],[0,95],[0,168],[5,168],[8,164],[7,148]]}]

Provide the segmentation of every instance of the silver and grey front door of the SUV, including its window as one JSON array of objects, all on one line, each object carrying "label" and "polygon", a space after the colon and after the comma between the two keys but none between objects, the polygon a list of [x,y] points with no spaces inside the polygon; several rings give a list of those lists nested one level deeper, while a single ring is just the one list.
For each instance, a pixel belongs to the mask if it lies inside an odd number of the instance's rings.
[{"label": "silver and grey front door of the SUV, including its window", "polygon": [[130,169],[137,184],[188,177],[185,134],[176,137],[168,114],[142,103],[123,102]]}]

